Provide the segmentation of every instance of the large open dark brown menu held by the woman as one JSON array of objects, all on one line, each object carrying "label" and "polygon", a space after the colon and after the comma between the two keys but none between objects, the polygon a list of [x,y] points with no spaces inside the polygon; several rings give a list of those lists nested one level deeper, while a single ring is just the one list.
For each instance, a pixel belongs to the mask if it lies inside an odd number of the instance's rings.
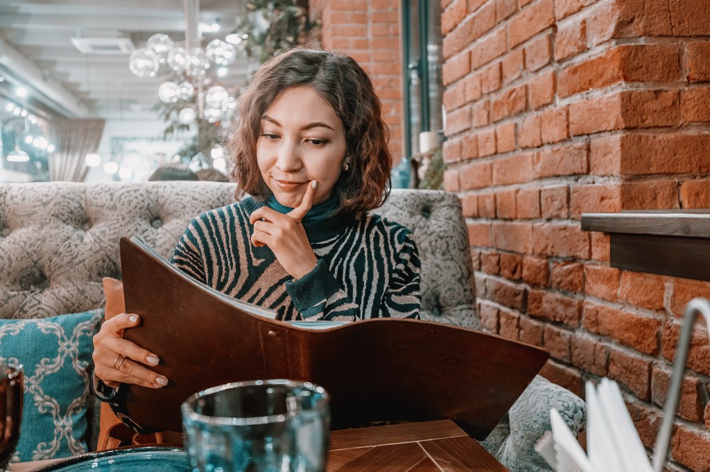
[{"label": "large open dark brown menu held by the woman", "polygon": [[280,322],[192,279],[136,236],[121,238],[121,272],[126,312],[141,315],[124,337],[158,355],[148,367],[169,380],[128,386],[129,415],[155,430],[180,431],[181,403],[204,388],[290,378],[328,391],[333,429],[448,418],[485,439],[549,356],[436,322]]}]

